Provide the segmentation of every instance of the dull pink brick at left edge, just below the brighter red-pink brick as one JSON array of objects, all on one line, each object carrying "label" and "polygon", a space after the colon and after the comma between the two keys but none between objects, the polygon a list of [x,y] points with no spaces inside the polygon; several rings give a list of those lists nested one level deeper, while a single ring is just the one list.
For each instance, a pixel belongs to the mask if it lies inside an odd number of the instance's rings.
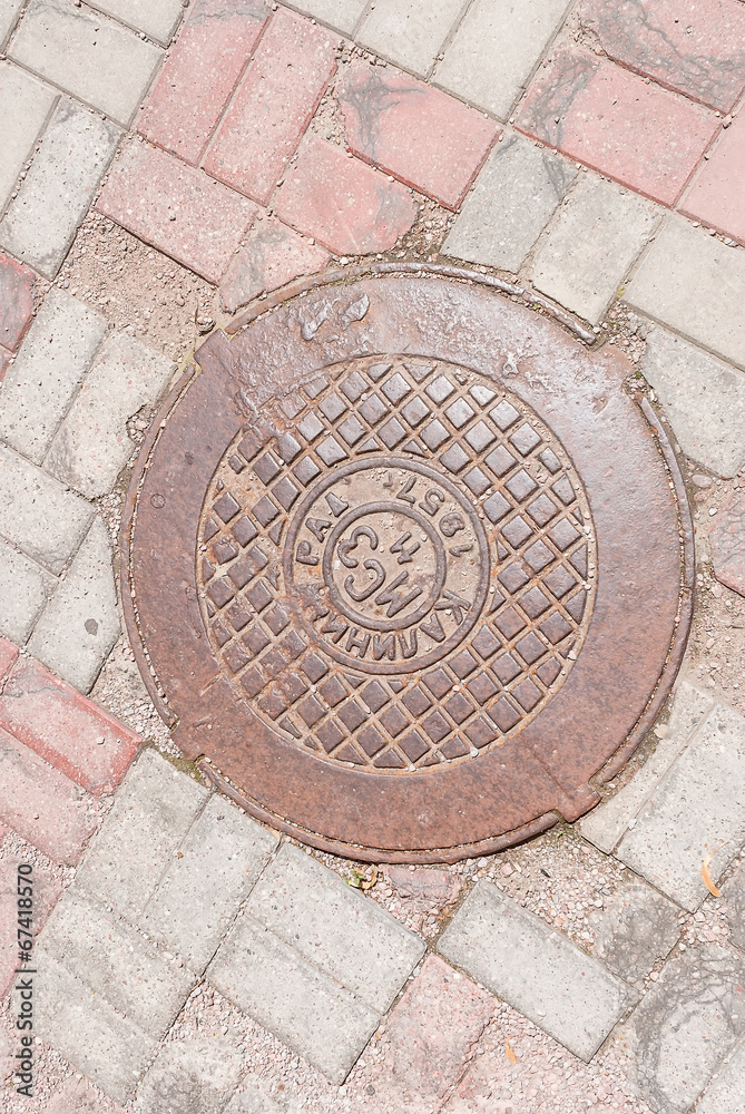
[{"label": "dull pink brick at left edge, just below the brighter red-pink brick", "polygon": [[85,790],[0,729],[0,820],[52,862],[76,863],[95,823]]}]

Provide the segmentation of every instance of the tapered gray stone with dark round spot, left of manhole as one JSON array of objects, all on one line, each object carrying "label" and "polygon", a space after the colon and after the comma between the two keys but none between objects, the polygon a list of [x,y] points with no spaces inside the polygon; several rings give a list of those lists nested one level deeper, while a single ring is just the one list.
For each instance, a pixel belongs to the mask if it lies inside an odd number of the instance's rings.
[{"label": "tapered gray stone with dark round spot, left of manhole", "polygon": [[29,652],[87,693],[118,637],[111,541],[97,517],[65,580],[37,623]]}]

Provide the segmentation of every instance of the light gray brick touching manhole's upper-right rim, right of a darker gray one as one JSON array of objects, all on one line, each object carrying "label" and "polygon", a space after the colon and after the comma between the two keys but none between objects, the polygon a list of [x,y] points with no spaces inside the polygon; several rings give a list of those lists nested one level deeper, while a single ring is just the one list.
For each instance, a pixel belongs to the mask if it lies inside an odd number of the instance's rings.
[{"label": "light gray brick touching manhole's upper-right rim, right of a darker gray one", "polygon": [[614,182],[580,174],[533,260],[535,286],[594,324],[604,316],[660,209]]}]

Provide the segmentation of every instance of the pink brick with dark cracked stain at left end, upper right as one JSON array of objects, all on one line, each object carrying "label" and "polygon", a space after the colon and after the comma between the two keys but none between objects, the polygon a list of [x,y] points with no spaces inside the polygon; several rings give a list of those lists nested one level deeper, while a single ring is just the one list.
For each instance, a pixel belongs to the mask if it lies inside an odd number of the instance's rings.
[{"label": "pink brick with dark cracked stain at left end, upper right", "polygon": [[710,144],[716,117],[612,62],[561,51],[518,116],[522,131],[654,201],[673,205]]}]

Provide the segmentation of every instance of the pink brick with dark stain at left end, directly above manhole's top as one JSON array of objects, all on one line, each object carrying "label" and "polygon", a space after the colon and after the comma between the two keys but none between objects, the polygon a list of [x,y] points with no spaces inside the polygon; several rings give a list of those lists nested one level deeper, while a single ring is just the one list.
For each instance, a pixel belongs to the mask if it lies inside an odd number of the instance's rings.
[{"label": "pink brick with dark stain at left end, directly above manhole's top", "polygon": [[500,131],[453,97],[390,66],[355,63],[337,94],[350,148],[452,209]]}]

